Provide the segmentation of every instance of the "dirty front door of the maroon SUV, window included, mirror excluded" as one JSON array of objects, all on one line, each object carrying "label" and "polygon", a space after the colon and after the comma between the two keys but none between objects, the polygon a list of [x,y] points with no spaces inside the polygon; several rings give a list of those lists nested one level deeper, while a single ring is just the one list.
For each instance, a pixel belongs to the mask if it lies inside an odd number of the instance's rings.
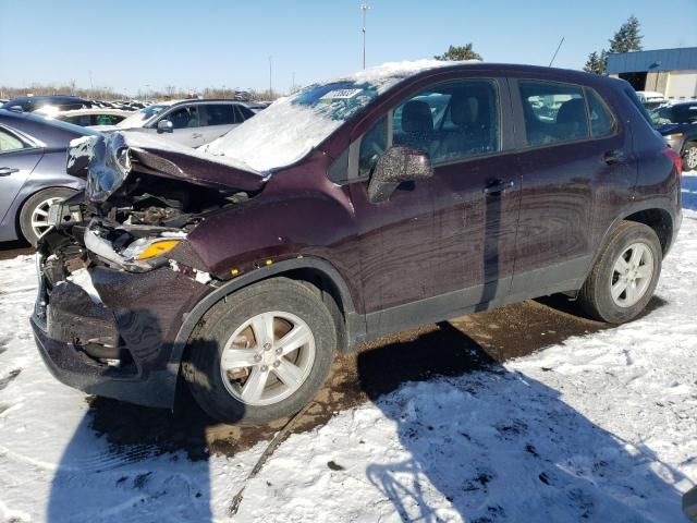
[{"label": "dirty front door of the maroon SUV, window included, mirror excluded", "polygon": [[[519,179],[502,151],[500,83],[435,84],[388,112],[350,154],[368,331],[455,317],[503,299],[513,275]],[[428,153],[429,180],[368,200],[392,145]],[[355,166],[351,166],[353,162]]]}]

